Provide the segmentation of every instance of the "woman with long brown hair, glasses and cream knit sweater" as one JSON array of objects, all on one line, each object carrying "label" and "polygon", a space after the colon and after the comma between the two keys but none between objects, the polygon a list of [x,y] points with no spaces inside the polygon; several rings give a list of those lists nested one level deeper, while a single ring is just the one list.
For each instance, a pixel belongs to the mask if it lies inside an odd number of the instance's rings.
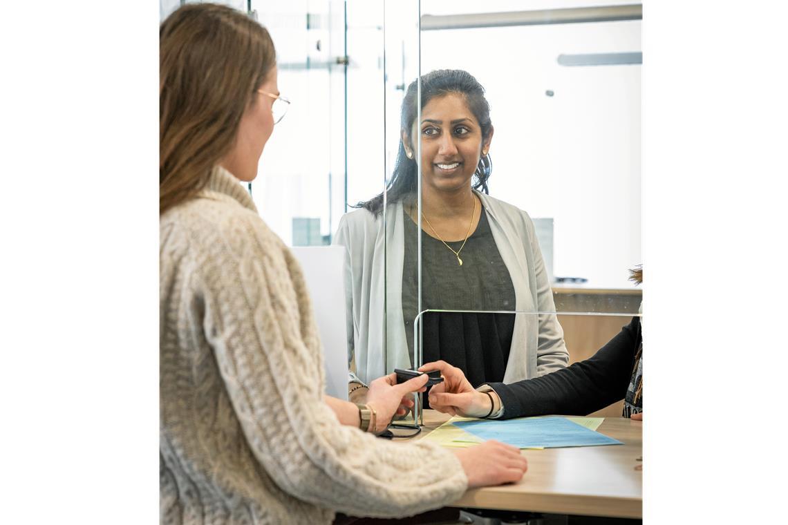
[{"label": "woman with long brown hair, glasses and cream knit sweater", "polygon": [[265,28],[183,6],[160,29],[162,523],[330,523],[404,516],[469,486],[518,481],[518,449],[455,453],[377,439],[426,375],[325,396],[318,333],[292,253],[241,181],[286,102]]}]

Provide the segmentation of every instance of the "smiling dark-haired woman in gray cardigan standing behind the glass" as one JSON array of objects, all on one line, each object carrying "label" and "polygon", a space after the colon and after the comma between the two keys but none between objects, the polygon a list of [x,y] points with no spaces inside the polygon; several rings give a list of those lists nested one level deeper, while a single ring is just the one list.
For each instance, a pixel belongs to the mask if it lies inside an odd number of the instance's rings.
[{"label": "smiling dark-haired woman in gray cardigan standing behind the glass", "polygon": [[415,81],[403,100],[387,208],[383,194],[362,202],[342,217],[336,233],[335,242],[348,250],[350,390],[360,397],[364,382],[413,365],[417,141],[423,170],[422,309],[540,312],[428,313],[423,359],[455,364],[474,384],[529,379],[568,361],[533,221],[488,195],[494,129],[484,88],[468,72],[449,69],[430,72],[421,83],[421,122]]}]

